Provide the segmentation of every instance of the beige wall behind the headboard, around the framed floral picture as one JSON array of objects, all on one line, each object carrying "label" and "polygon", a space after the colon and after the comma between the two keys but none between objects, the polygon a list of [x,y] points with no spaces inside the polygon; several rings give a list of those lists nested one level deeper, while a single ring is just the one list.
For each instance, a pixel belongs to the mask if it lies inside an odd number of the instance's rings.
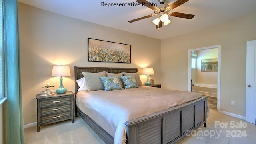
[{"label": "beige wall behind the headboard, around the framed floral picture", "polygon": [[[70,66],[71,77],[63,84],[74,92],[74,66],[154,68],[155,83],[160,83],[160,43],[153,39],[86,21],[69,18],[26,4],[18,3],[20,27],[20,61],[24,124],[36,122],[36,94],[47,82],[59,86],[51,77],[53,65]],[[87,38],[131,45],[131,64],[88,62]],[[141,76],[142,82],[146,76]],[[34,118],[35,117],[35,118]]]}]

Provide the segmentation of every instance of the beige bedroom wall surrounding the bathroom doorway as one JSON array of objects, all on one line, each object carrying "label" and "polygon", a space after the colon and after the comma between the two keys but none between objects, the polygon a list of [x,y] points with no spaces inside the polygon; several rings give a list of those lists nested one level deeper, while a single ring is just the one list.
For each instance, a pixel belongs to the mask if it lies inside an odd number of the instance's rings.
[{"label": "beige bedroom wall surrounding the bathroom doorway", "polygon": [[[188,50],[221,45],[220,110],[245,116],[246,41],[256,39],[256,14],[162,40],[163,88],[187,90]],[[235,101],[235,106],[231,106]]]}]

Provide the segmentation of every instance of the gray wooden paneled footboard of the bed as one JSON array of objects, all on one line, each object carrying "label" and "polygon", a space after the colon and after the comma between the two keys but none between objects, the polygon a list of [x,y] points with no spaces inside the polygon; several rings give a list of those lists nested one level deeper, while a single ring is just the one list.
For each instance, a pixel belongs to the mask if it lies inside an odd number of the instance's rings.
[{"label": "gray wooden paneled footboard of the bed", "polygon": [[128,144],[170,144],[192,130],[206,127],[207,97],[127,121]]}]

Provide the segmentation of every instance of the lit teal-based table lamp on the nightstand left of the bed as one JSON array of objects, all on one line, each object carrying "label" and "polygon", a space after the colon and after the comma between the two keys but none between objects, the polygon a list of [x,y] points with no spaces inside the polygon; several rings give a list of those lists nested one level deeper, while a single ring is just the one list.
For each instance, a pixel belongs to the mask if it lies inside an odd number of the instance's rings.
[{"label": "lit teal-based table lamp on the nightstand left of the bed", "polygon": [[62,76],[71,76],[69,66],[53,66],[52,67],[52,76],[60,76],[60,86],[56,89],[56,93],[62,94],[66,93],[67,89],[64,88],[62,84]]}]

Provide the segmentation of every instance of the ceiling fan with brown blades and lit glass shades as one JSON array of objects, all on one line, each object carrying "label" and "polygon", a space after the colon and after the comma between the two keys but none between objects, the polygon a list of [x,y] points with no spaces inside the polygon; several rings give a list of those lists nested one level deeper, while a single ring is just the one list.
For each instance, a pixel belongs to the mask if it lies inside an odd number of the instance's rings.
[{"label": "ceiling fan with brown blades and lit glass shades", "polygon": [[192,19],[195,15],[184,14],[184,13],[180,13],[180,12],[172,12],[172,10],[174,8],[184,4],[187,1],[189,1],[189,0],[177,0],[176,2],[168,5],[168,4],[164,4],[165,0],[158,0],[158,2],[160,3],[160,7],[158,8],[153,3],[150,3],[150,2],[148,2],[146,0],[137,0],[136,2],[142,4],[143,6],[151,8],[152,10],[154,10],[154,14],[150,14],[148,16],[144,16],[144,17],[141,17],[141,18],[133,19],[133,20],[130,20],[128,22],[132,23],[132,22],[135,22],[135,21],[139,21],[141,19],[150,18],[152,16],[156,16],[157,15],[158,18],[154,19],[152,22],[156,25],[156,28],[159,29],[159,28],[162,27],[162,22],[164,23],[164,25],[168,25],[171,22],[169,20],[169,16],[175,16],[175,17],[179,17],[179,18]]}]

